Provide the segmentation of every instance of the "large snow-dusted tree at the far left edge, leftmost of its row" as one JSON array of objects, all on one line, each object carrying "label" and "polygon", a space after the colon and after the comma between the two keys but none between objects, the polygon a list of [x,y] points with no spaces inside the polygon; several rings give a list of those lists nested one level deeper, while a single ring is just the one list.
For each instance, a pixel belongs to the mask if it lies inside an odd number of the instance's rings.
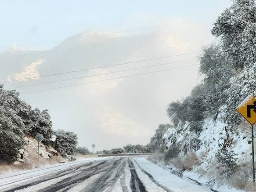
[{"label": "large snow-dusted tree at the far left edge, leftmost of its row", "polygon": [[23,147],[24,123],[18,115],[22,106],[18,92],[0,86],[0,161],[16,161]]}]

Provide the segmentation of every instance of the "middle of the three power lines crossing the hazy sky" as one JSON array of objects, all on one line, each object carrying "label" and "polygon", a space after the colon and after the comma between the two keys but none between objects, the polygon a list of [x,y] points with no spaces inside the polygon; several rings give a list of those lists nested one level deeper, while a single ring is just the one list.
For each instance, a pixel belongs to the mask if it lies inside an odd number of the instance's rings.
[{"label": "middle of the three power lines crossing the hazy sky", "polygon": [[44,82],[44,83],[38,83],[38,84],[23,85],[23,86],[13,87],[13,88],[9,88],[9,89],[17,89],[17,88],[23,88],[23,87],[36,86],[36,85],[58,83],[58,82],[64,82],[64,81],[70,81],[70,80],[76,80],[76,79],[82,79],[82,78],[94,77],[94,76],[100,76],[100,75],[108,75],[108,74],[112,74],[112,73],[118,73],[118,72],[124,72],[124,71],[136,70],[136,69],[143,69],[143,68],[150,68],[150,67],[169,65],[169,64],[172,64],[172,63],[178,63],[178,62],[184,62],[184,61],[189,61],[189,60],[174,61],[174,62],[169,62],[169,63],[162,63],[162,64],[157,64],[157,65],[149,65],[149,66],[144,66],[144,67],[139,67],[139,68],[124,69],[124,70],[112,71],[112,72],[108,72],[108,73],[101,73],[101,74],[95,74],[95,75],[90,75],[90,76],[82,76],[82,77],[62,79],[62,80],[50,81],[50,82]]}]

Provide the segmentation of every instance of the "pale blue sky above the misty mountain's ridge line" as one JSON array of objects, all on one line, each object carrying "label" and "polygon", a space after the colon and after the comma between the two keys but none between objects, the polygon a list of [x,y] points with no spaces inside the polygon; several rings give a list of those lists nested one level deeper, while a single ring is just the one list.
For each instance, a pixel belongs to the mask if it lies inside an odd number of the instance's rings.
[{"label": "pale blue sky above the misty mountain's ridge line", "polygon": [[230,0],[0,0],[0,47],[54,45],[83,31],[140,33],[184,19],[207,29]]}]

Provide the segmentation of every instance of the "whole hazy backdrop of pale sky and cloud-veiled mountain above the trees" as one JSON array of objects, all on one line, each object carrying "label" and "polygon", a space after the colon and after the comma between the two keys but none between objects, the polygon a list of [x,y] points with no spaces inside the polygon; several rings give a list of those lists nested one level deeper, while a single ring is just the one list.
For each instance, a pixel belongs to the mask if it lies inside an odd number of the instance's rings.
[{"label": "whole hazy backdrop of pale sky and cloud-veiled mountain above the trees", "polygon": [[[185,53],[179,57],[5,85],[11,88],[179,61],[171,66],[97,76],[72,83],[17,88],[22,93],[195,65],[80,87],[21,94],[32,107],[49,109],[54,129],[77,132],[81,146],[90,148],[95,143],[96,149],[100,150],[128,143],[146,144],[158,124],[169,122],[165,111],[168,103],[187,96],[200,81],[196,66],[200,50],[214,40],[210,32],[212,23],[229,5],[229,0],[1,0],[1,80]],[[10,53],[8,50],[13,44],[30,50],[29,54]],[[42,52],[33,52],[35,50]],[[196,53],[188,54],[191,52]]]}]

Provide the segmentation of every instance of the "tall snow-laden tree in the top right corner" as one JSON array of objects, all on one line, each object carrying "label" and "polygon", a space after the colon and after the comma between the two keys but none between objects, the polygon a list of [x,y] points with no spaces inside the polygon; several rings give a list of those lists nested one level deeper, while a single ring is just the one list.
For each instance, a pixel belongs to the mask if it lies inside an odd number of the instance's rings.
[{"label": "tall snow-laden tree in the top right corner", "polygon": [[223,52],[232,59],[234,68],[256,61],[256,5],[254,0],[234,0],[218,18],[212,29],[221,37]]}]

